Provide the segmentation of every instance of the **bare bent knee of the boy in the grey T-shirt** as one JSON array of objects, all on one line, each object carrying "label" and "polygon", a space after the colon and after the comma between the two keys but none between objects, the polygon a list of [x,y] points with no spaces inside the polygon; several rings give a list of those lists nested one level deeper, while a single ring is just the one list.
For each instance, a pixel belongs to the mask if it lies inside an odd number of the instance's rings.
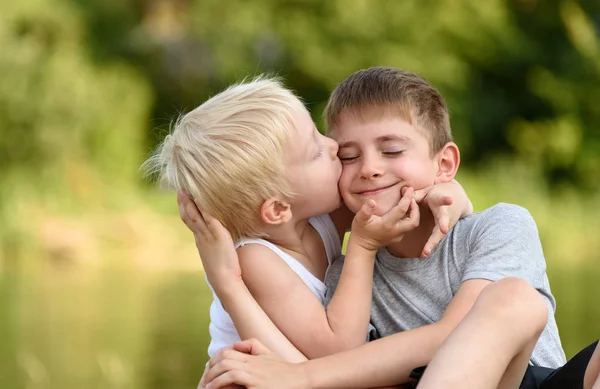
[{"label": "bare bent knee of the boy in the grey T-shirt", "polygon": [[[548,321],[548,306],[540,293],[527,282],[508,277],[488,285],[481,292],[485,305],[507,320],[528,323],[541,332]],[[482,301],[483,302],[483,301]]]}]

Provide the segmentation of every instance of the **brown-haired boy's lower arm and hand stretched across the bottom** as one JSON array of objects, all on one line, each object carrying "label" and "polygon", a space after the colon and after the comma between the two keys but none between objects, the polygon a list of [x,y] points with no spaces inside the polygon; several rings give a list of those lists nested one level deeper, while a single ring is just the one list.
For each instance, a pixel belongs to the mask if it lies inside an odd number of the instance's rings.
[{"label": "brown-haired boy's lower arm and hand stretched across the bottom", "polygon": [[[442,319],[437,323],[299,364],[277,360],[265,353],[264,349],[256,353],[246,349],[253,342],[234,345],[244,353],[233,350],[217,353],[210,361],[210,369],[205,377],[206,383],[212,381],[213,389],[229,383],[246,385],[252,389],[271,387],[346,389],[407,382],[412,369],[431,361],[437,349],[468,313],[483,288],[489,283],[486,280],[471,280],[463,283]],[[254,356],[246,353],[264,355]],[[244,364],[232,364],[232,361],[242,361]],[[232,368],[232,366],[236,367]],[[241,372],[243,374],[239,374]],[[290,384],[283,386],[282,382]]]}]

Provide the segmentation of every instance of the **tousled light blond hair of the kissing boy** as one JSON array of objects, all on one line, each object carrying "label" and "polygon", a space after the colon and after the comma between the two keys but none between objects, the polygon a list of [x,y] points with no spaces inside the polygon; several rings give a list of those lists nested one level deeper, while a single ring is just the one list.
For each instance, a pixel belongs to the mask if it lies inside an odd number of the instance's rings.
[{"label": "tousled light blond hair of the kissing boy", "polygon": [[284,146],[302,102],[277,78],[233,85],[183,115],[143,168],[195,199],[238,241],[263,236],[263,202],[292,196]]}]

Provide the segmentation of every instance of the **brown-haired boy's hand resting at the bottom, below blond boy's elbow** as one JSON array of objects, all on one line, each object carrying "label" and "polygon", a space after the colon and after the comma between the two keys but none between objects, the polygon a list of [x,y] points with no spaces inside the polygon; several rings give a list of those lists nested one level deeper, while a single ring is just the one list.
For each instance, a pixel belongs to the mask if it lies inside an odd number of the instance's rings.
[{"label": "brown-haired boy's hand resting at the bottom, below blond boy's elbow", "polygon": [[310,388],[302,364],[282,361],[256,339],[219,350],[210,360],[201,385],[219,389],[230,384],[248,389]]}]

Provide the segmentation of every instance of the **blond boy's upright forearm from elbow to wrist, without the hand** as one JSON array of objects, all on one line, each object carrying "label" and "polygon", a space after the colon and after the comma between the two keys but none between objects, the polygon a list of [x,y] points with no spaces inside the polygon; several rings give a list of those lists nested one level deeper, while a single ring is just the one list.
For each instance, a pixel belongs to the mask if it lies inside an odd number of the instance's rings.
[{"label": "blond boy's upright forearm from elbow to wrist, without the hand", "polygon": [[332,352],[365,343],[371,316],[375,251],[353,242],[348,252],[336,291],[327,306],[327,321],[338,345]]}]

